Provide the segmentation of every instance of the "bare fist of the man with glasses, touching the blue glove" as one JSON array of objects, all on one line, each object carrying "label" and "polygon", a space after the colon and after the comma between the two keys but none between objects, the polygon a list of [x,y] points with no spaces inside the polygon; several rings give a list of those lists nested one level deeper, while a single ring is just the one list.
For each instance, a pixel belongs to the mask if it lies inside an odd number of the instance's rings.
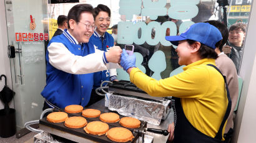
[{"label": "bare fist of the man with glasses, touching the blue glove", "polygon": [[120,61],[122,50],[119,46],[110,48],[105,54],[108,62],[118,63]]}]

